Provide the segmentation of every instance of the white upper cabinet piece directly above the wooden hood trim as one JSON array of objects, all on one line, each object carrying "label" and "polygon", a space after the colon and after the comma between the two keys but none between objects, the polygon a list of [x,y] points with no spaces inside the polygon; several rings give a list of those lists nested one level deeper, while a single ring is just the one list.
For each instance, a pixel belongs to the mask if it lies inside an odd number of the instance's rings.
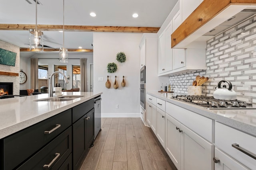
[{"label": "white upper cabinet piece directly above the wooden hood trim", "polygon": [[203,2],[203,0],[180,0],[182,22]]}]

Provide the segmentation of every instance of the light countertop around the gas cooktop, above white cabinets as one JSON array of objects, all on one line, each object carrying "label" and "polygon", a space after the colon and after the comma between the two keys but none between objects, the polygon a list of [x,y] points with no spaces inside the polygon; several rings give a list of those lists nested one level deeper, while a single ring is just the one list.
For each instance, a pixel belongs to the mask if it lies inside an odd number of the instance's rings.
[{"label": "light countertop around the gas cooktop, above white cabinets", "polygon": [[206,109],[201,106],[175,100],[172,98],[172,96],[176,96],[174,93],[147,92],[147,94],[256,137],[256,109]]}]

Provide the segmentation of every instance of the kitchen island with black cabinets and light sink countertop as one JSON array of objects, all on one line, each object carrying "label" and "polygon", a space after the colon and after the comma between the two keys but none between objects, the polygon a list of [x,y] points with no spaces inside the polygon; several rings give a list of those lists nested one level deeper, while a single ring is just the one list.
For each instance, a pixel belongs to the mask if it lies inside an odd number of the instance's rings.
[{"label": "kitchen island with black cabinets and light sink countertop", "polygon": [[[94,141],[94,98],[62,92],[0,102],[0,169],[78,169]],[[45,101],[43,101],[45,100]]]}]

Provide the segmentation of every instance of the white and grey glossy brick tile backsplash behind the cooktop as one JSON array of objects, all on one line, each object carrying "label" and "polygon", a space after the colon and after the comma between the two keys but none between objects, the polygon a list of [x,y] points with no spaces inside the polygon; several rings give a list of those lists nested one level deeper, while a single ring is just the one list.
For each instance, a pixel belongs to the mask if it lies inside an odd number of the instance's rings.
[{"label": "white and grey glossy brick tile backsplash behind the cooktop", "polygon": [[[244,34],[240,34],[242,31]],[[212,96],[218,82],[229,80],[238,100],[256,104],[255,46],[256,17],[243,21],[207,41],[206,70],[172,75],[170,83],[178,94],[187,94],[187,86],[191,86],[196,75],[207,76],[209,80],[204,83],[202,95]]]}]

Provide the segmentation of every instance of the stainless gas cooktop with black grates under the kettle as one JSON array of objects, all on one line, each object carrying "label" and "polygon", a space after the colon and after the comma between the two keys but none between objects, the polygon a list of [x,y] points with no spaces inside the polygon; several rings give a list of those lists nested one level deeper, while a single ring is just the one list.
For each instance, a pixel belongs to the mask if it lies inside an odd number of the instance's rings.
[{"label": "stainless gas cooktop with black grates under the kettle", "polygon": [[187,96],[177,95],[172,96],[176,100],[196,104],[206,107],[207,109],[256,109],[256,105],[246,103],[240,100],[218,100],[213,96]]}]

